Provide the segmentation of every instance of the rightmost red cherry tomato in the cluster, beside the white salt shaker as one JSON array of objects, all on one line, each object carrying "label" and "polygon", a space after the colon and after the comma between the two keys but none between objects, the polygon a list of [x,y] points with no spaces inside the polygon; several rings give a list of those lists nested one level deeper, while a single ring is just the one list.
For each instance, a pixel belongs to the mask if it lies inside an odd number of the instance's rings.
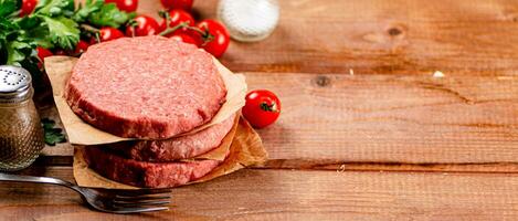
[{"label": "rightmost red cherry tomato in the cluster, beside the white salt shaker", "polygon": [[207,52],[211,53],[215,57],[223,55],[229,48],[230,36],[229,32],[226,31],[225,27],[218,21],[214,20],[203,20],[197,24],[197,27],[202,31],[208,31],[211,35],[213,35],[212,41],[202,44]]}]

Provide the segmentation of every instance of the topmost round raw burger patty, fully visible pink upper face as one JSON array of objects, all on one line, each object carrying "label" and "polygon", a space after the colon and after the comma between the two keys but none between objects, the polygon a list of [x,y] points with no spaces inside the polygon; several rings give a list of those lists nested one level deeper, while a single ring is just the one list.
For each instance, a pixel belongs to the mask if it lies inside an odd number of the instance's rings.
[{"label": "topmost round raw burger patty, fully visible pink upper face", "polygon": [[226,88],[212,56],[162,36],[88,48],[65,98],[83,120],[120,137],[162,139],[212,119]]}]

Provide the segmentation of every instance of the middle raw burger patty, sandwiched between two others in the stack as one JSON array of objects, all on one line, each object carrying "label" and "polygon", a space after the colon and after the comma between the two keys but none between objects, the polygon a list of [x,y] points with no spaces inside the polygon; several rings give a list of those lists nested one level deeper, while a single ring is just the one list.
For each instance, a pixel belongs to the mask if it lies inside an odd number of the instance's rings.
[{"label": "middle raw burger patty, sandwiched between two others in the stack", "polygon": [[[106,145],[129,159],[172,161],[204,154],[220,146],[234,125],[234,115],[201,131],[162,140],[135,140]],[[106,148],[105,147],[105,148]]]}]

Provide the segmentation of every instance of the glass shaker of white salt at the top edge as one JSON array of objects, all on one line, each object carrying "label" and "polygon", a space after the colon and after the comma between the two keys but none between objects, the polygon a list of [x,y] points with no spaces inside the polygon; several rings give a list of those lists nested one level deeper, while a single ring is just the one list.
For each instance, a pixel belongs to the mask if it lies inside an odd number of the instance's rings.
[{"label": "glass shaker of white salt at the top edge", "polygon": [[276,0],[220,0],[218,19],[237,41],[253,42],[266,39],[279,19]]}]

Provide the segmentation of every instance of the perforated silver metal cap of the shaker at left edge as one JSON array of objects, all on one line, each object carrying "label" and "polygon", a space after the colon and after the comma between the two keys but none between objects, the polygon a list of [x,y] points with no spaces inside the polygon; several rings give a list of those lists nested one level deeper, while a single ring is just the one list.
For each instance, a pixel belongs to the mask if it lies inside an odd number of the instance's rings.
[{"label": "perforated silver metal cap of the shaker at left edge", "polygon": [[0,65],[0,103],[17,103],[32,96],[31,73],[23,67]]}]

